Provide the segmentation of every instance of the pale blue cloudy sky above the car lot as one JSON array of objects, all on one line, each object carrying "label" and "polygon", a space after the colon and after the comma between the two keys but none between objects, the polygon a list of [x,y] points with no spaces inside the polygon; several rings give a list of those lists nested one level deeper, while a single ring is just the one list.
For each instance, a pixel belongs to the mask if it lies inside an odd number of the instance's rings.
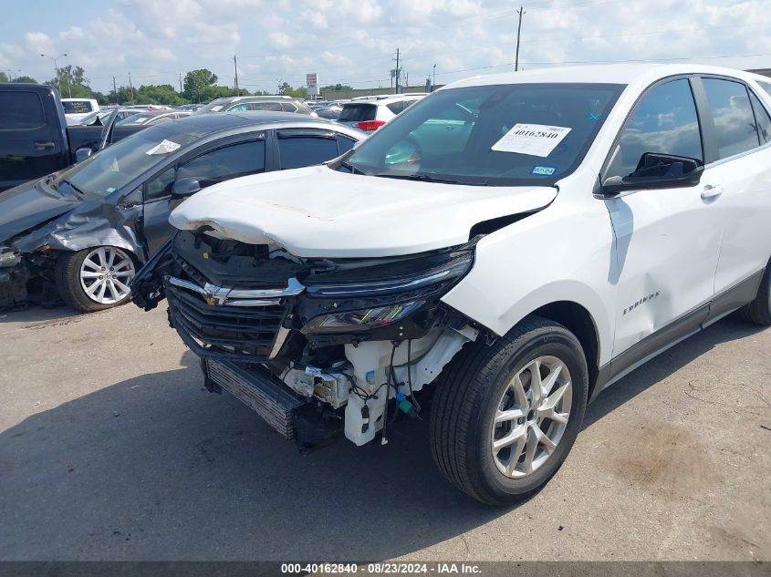
[{"label": "pale blue cloudy sky above the car lot", "polygon": [[[520,66],[693,61],[771,68],[771,0],[523,1]],[[77,9],[75,9],[77,8]],[[172,84],[209,68],[221,85],[391,85],[399,48],[412,86],[514,70],[512,0],[0,0],[0,70],[86,70],[92,88]]]}]

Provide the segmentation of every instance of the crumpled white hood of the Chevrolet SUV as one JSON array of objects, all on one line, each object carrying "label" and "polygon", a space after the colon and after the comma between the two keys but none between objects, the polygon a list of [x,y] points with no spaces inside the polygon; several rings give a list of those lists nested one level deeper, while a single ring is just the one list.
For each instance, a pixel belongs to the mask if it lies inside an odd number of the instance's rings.
[{"label": "crumpled white hood of the Chevrolet SUV", "polygon": [[358,258],[431,251],[469,240],[477,222],[537,211],[552,187],[483,187],[362,176],[316,166],[226,181],[184,201],[169,222],[208,225],[301,257]]}]

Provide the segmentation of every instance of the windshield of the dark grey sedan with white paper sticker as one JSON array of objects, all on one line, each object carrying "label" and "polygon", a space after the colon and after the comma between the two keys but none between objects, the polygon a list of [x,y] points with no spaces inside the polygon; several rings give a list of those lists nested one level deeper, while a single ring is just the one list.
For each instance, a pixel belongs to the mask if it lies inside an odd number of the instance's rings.
[{"label": "windshield of the dark grey sedan with white paper sticker", "polygon": [[199,137],[189,134],[182,122],[144,129],[59,173],[54,184],[68,181],[85,194],[107,196]]}]

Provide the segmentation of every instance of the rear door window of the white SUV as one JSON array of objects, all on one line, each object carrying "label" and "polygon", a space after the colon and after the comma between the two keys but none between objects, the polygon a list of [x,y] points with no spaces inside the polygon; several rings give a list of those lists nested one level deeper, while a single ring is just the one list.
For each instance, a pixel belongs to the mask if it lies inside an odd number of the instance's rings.
[{"label": "rear door window of the white SUV", "polygon": [[703,78],[702,82],[714,119],[718,158],[757,148],[755,117],[745,85],[717,78]]}]

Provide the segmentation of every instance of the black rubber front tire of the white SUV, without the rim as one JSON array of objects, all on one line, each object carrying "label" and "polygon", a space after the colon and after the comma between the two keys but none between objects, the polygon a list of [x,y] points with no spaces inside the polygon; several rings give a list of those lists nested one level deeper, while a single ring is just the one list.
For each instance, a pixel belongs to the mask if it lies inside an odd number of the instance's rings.
[{"label": "black rubber front tire of the white SUV, without the rim", "polygon": [[[523,478],[496,468],[490,445],[495,410],[515,376],[533,359],[557,356],[572,381],[568,423],[550,457]],[[587,405],[589,371],[583,349],[563,325],[531,316],[494,345],[469,345],[453,359],[436,387],[431,411],[431,447],[443,476],[488,505],[507,505],[541,489],[568,457]]]}]

